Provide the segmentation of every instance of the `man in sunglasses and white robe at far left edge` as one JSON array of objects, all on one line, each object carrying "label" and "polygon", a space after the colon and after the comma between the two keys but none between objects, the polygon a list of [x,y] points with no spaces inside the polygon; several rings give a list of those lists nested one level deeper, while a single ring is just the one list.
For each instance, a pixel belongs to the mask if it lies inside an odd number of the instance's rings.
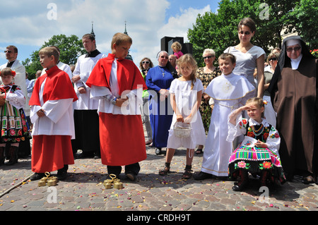
[{"label": "man in sunglasses and white robe at far left edge", "polygon": [[[0,71],[3,68],[9,67],[12,71],[16,71],[16,76],[14,77],[15,85],[18,85],[23,91],[23,95],[25,96],[25,107],[23,107],[23,111],[25,112],[25,116],[30,116],[30,107],[29,107],[29,98],[28,91],[25,83],[25,67],[20,63],[18,58],[18,48],[14,45],[9,45],[6,47],[4,51],[6,54],[6,59],[8,63],[4,63],[4,65],[0,66]],[[0,83],[2,80],[0,78]],[[18,150],[18,154],[22,156],[28,156],[31,152],[30,142],[21,142]]]}]

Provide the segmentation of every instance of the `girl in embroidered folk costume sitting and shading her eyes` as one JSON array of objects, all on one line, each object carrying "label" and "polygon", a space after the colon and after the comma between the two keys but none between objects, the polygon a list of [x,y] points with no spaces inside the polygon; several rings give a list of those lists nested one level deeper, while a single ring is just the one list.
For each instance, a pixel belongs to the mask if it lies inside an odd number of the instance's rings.
[{"label": "girl in embroidered folk costume sitting and shading her eyes", "polygon": [[[242,118],[246,110],[249,119]],[[230,156],[228,173],[230,178],[240,176],[240,182],[232,190],[240,191],[247,185],[248,174],[259,174],[261,186],[266,186],[267,179],[285,182],[281,159],[278,154],[281,138],[276,128],[267,123],[264,117],[264,101],[254,97],[248,99],[244,107],[240,107],[229,116],[228,141],[237,135],[245,135],[245,139]]]}]

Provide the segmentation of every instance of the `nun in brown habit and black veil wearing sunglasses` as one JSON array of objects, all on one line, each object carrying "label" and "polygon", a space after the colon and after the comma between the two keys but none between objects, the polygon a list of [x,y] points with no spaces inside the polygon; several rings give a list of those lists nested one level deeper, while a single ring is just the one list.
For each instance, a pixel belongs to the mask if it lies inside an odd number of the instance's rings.
[{"label": "nun in brown habit and black veil wearing sunglasses", "polygon": [[302,176],[317,183],[318,175],[318,61],[299,36],[283,40],[269,92],[281,136],[279,154],[288,181]]}]

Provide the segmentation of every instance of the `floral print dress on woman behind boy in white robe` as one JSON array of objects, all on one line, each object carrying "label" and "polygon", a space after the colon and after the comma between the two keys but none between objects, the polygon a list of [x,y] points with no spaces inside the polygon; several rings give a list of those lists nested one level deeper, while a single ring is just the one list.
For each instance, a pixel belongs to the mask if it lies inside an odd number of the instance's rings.
[{"label": "floral print dress on woman behind boy in white robe", "polygon": [[[220,68],[218,67],[216,67],[212,73],[204,73],[204,67],[201,67],[198,69],[196,78],[199,78],[199,80],[201,80],[202,85],[204,85],[204,88],[206,88],[208,87],[208,84],[211,83],[211,80],[213,80],[213,78],[216,78],[218,75],[221,75],[221,74],[222,72],[220,71]],[[199,111],[201,114],[202,121],[204,123],[204,130],[206,130],[206,133],[208,133],[208,127],[210,126],[212,109],[210,104],[208,104],[208,100],[204,99],[204,97],[202,97]]]}]

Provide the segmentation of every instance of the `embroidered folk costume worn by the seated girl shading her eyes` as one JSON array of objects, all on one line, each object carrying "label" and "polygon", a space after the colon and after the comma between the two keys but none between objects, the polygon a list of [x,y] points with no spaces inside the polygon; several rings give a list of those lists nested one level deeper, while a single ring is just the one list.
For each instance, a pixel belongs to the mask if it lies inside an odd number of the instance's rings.
[{"label": "embroidered folk costume worn by the seated girl shading her eyes", "polygon": [[[281,138],[276,128],[266,122],[257,123],[252,118],[242,118],[238,120],[236,126],[229,124],[229,136],[245,135],[245,139],[240,143],[230,156],[228,174],[230,178],[237,178],[236,173],[240,169],[245,169],[251,174],[261,174],[261,171],[269,171],[271,181],[278,179],[285,182],[281,159],[278,154]],[[257,140],[266,142],[268,148],[254,146]]]}]

